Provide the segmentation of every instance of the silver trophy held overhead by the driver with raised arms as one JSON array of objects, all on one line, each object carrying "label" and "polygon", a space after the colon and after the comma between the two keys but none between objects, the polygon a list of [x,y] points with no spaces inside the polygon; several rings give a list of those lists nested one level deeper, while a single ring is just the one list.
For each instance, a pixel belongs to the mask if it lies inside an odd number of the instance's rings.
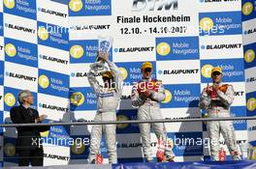
[{"label": "silver trophy held overhead by the driver with raised arms", "polygon": [[94,64],[90,67],[97,73],[104,72],[108,70],[108,67],[105,66],[105,60],[109,60],[109,52],[112,48],[112,37],[102,38],[99,37],[98,44],[98,55]]}]

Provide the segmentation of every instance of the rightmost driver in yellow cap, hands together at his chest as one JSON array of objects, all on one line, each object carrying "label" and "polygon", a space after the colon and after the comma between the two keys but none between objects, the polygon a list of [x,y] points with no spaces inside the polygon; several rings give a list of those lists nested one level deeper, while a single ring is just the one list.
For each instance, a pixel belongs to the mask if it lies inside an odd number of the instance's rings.
[{"label": "rightmost driver in yellow cap, hands together at his chest", "polygon": [[[208,110],[209,118],[230,117],[230,105],[235,92],[232,85],[222,83],[222,69],[211,70],[212,86],[205,88],[200,98],[200,108]],[[214,161],[219,160],[219,134],[222,133],[229,152],[234,160],[239,160],[237,141],[232,121],[208,122],[208,137],[210,141],[210,155]]]}]

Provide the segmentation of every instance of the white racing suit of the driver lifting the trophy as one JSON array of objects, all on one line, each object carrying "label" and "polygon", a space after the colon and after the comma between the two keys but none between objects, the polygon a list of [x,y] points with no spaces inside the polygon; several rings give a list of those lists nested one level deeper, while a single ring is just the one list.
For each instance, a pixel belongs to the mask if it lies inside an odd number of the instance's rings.
[{"label": "white racing suit of the driver lifting the trophy", "polygon": [[[94,121],[116,121],[116,108],[122,95],[122,78],[118,68],[109,62],[114,76],[115,87],[103,88],[96,79],[96,72],[89,70],[88,81],[97,95],[97,113]],[[94,125],[91,130],[89,162],[92,162],[100,153],[100,143],[103,132],[106,133],[106,144],[109,153],[109,162],[117,163],[116,155],[116,125]]]}]

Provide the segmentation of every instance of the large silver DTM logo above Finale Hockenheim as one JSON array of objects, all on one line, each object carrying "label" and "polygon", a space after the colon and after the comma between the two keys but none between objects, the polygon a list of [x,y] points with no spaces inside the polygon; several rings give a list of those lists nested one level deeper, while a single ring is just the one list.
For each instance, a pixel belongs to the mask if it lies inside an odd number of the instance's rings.
[{"label": "large silver DTM logo above Finale Hockenheim", "polygon": [[148,8],[149,11],[177,10],[177,0],[134,0],[133,12],[141,12]]}]

